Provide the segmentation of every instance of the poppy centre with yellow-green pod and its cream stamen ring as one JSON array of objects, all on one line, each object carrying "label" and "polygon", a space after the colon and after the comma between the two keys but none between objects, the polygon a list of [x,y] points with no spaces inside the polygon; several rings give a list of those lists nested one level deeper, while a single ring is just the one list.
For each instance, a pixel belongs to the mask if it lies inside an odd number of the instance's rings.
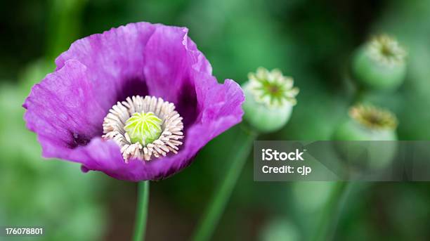
[{"label": "poppy centre with yellow-green pod and its cream stamen ring", "polygon": [[182,119],[173,103],[154,96],[132,96],[109,110],[102,138],[115,141],[126,162],[149,161],[178,152],[183,139]]}]

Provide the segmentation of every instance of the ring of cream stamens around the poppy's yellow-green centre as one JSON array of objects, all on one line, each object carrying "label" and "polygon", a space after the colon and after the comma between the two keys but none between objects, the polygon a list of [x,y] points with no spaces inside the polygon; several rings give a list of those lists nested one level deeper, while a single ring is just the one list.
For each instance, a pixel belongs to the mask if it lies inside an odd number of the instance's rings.
[{"label": "ring of cream stamens around the poppy's yellow-green centre", "polygon": [[[135,113],[149,113],[161,119],[161,134],[152,141],[144,143],[132,141],[124,126]],[[165,157],[167,153],[178,153],[178,146],[182,145],[183,123],[182,117],[175,110],[175,105],[154,96],[132,96],[126,101],[118,102],[103,121],[103,138],[115,141],[121,148],[122,157],[129,159],[144,159]]]}]

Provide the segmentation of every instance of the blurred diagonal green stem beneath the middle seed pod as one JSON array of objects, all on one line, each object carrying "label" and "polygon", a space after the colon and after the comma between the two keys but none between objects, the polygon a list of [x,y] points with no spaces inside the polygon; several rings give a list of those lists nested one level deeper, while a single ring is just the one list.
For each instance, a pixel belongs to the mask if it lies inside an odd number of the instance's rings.
[{"label": "blurred diagonal green stem beneath the middle seed pod", "polygon": [[226,158],[230,160],[230,167],[228,167],[224,179],[221,181],[218,188],[216,188],[214,196],[211,198],[209,206],[197,226],[192,240],[209,240],[212,233],[214,233],[226,204],[230,199],[236,181],[242,172],[249,152],[252,150],[252,145],[257,135],[245,129],[245,126],[242,125],[241,127],[240,133],[237,135],[237,140],[235,140],[236,146],[231,149],[233,152],[230,154],[230,157]]}]

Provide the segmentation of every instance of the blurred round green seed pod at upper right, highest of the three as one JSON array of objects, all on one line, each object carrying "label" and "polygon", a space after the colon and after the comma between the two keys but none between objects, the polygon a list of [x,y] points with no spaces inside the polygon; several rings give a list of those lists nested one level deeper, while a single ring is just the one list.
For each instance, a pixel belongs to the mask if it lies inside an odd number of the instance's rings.
[{"label": "blurred round green seed pod at upper right, highest of the three", "polygon": [[374,37],[353,56],[353,78],[368,89],[396,89],[405,79],[405,57],[406,52],[395,39],[386,35]]}]

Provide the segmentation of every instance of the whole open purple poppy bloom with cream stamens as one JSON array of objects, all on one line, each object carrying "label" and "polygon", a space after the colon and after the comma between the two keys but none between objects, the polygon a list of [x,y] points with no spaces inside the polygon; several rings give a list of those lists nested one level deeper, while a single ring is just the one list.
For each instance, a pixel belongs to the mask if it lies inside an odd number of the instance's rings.
[{"label": "whole open purple poppy bloom with cream stamens", "polygon": [[[112,28],[75,41],[56,65],[33,86],[24,119],[44,157],[78,162],[83,171],[127,181],[166,178],[242,119],[242,89],[216,81],[185,27]],[[136,130],[156,135],[133,141]]]}]

